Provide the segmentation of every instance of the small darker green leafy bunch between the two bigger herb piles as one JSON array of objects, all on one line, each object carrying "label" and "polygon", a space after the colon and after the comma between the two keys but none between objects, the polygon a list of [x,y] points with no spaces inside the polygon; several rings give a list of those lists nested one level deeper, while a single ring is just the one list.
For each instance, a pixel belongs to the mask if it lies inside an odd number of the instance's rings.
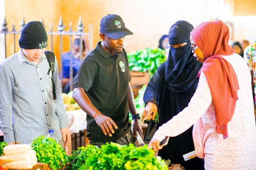
[{"label": "small darker green leafy bunch between the two bigger herb piles", "polygon": [[66,169],[79,169],[83,164],[85,164],[86,158],[92,156],[95,149],[98,149],[98,146],[87,145],[86,147],[82,146],[78,148],[78,150],[73,150],[72,155],[68,157],[69,165],[66,166]]}]

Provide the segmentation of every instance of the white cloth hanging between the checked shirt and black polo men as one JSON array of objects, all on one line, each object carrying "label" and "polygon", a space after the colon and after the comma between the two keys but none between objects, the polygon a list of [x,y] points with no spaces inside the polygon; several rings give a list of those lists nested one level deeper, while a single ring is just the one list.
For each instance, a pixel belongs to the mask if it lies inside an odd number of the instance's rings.
[{"label": "white cloth hanging between the checked shirt and black polo men", "polygon": [[82,109],[67,111],[68,128],[70,134],[85,130],[87,126],[86,113]]}]

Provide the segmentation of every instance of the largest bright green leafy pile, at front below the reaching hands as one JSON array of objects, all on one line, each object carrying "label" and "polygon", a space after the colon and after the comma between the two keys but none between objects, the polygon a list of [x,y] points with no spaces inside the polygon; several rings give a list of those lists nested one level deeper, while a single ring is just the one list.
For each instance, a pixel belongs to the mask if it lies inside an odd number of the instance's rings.
[{"label": "largest bright green leafy pile, at front below the reaching hands", "polygon": [[165,170],[168,169],[164,160],[154,156],[154,151],[148,149],[147,145],[135,147],[122,146],[117,143],[102,145],[102,148],[95,149],[94,153],[85,160],[85,164],[79,170]]}]

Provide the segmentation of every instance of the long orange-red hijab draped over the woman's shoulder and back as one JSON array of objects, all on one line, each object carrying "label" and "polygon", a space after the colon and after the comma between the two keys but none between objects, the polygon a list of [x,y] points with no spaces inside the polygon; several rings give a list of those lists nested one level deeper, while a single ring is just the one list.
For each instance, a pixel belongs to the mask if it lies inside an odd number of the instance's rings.
[{"label": "long orange-red hijab draped over the woman's shoulder and back", "polygon": [[[198,25],[191,36],[203,52],[204,72],[215,107],[216,132],[228,137],[227,123],[231,120],[239,89],[236,73],[231,64],[220,55],[232,55],[228,45],[229,30],[222,21],[204,22]],[[200,74],[200,72],[199,72]]]}]

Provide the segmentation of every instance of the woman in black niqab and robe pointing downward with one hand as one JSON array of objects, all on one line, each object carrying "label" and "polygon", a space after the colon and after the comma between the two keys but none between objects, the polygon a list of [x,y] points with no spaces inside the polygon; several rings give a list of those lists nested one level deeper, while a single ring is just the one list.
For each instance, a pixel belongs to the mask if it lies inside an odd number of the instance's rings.
[{"label": "woman in black niqab and robe pointing downward with one hand", "polygon": [[[156,105],[160,115],[158,127],[187,107],[196,91],[199,80],[197,74],[202,64],[191,52],[189,37],[193,29],[193,25],[187,21],[177,21],[172,25],[167,61],[157,68],[143,96],[146,107],[142,118],[152,113],[152,104]],[[193,126],[177,137],[170,138],[168,145],[158,151],[158,156],[170,159],[172,164],[181,164],[186,170],[204,169],[202,159],[196,157],[185,162],[182,156],[195,150],[192,130]]]}]

